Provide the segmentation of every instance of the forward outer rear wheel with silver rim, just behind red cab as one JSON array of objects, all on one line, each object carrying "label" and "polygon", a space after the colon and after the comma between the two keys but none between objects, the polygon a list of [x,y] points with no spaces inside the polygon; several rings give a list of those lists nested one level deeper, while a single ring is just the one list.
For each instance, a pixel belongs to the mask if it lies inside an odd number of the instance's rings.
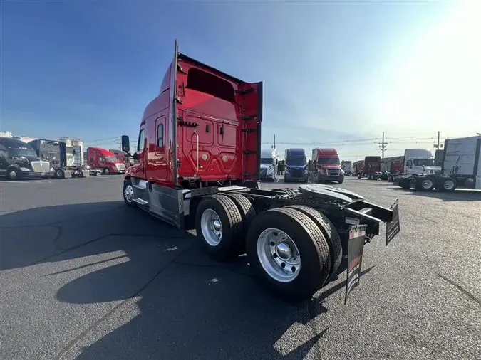
[{"label": "forward outer rear wheel with silver rim, just behind red cab", "polygon": [[234,201],[227,196],[211,195],[200,201],[195,230],[207,251],[217,260],[228,260],[242,253],[242,216]]}]

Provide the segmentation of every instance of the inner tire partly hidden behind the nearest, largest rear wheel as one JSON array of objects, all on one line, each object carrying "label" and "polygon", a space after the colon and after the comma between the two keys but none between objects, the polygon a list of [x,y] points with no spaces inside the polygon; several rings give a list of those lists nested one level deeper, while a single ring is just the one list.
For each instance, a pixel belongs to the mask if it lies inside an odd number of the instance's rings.
[{"label": "inner tire partly hidden behind the nearest, largest rear wheel", "polygon": [[305,205],[291,205],[286,206],[287,208],[295,208],[296,210],[301,211],[301,213],[306,214],[309,218],[316,223],[317,227],[321,229],[324,238],[329,245],[329,255],[330,255],[330,263],[331,263],[331,270],[329,272],[329,277],[326,280],[326,285],[329,280],[331,280],[334,275],[336,275],[339,265],[342,262],[342,243],[341,238],[339,238],[339,234],[336,231],[336,227],[329,221],[329,218],[321,213],[321,211],[316,210],[315,208],[311,208]]}]

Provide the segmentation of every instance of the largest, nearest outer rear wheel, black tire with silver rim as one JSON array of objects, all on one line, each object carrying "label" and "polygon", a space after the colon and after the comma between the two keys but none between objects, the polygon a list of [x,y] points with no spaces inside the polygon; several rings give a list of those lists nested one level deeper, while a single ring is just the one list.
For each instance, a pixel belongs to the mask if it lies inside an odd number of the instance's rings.
[{"label": "largest, nearest outer rear wheel, black tire with silver rim", "polygon": [[252,221],[247,256],[257,280],[288,302],[309,299],[329,278],[329,246],[316,223],[295,208],[274,208]]}]

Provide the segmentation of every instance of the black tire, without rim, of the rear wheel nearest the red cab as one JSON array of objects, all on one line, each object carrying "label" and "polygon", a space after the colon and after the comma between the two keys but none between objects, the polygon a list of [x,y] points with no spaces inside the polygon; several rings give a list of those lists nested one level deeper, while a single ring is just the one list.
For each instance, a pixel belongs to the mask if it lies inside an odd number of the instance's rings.
[{"label": "black tire, without rim, of the rear wheel nearest the red cab", "polygon": [[[206,240],[202,233],[202,214],[212,209],[219,216],[222,235],[217,245]],[[217,260],[229,260],[237,257],[244,249],[244,228],[242,215],[232,199],[223,195],[210,195],[200,201],[195,215],[195,230],[202,239],[207,251]],[[208,237],[208,236],[207,236]]]}]

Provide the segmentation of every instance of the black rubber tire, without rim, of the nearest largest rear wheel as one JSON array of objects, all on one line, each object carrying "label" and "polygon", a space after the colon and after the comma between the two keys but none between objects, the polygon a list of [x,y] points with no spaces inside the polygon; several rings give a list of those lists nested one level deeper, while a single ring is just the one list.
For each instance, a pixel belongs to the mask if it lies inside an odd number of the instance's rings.
[{"label": "black rubber tire, without rim, of the nearest largest rear wheel", "polygon": [[[274,280],[259,261],[259,235],[268,228],[284,231],[299,250],[301,268],[289,282]],[[310,299],[329,277],[329,246],[323,233],[309,216],[294,208],[274,208],[257,215],[247,231],[246,247],[249,263],[257,280],[267,287],[267,290],[287,302]]]}]

